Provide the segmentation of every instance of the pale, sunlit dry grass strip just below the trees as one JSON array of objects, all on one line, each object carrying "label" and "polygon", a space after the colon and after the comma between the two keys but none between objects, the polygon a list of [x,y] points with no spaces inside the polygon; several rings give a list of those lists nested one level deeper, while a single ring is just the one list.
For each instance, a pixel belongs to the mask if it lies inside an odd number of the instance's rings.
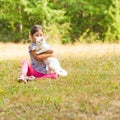
[{"label": "pale, sunlit dry grass strip just below the trees", "polygon": [[[0,43],[0,58],[29,58],[29,44]],[[64,57],[101,57],[106,55],[120,55],[120,44],[78,44],[53,45],[56,56]]]}]

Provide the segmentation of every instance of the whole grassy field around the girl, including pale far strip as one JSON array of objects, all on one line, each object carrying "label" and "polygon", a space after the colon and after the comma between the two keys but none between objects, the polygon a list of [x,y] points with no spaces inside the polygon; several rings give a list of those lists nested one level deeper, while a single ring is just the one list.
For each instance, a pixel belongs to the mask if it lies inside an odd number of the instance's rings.
[{"label": "whole grassy field around the girl, including pale far strip", "polygon": [[0,46],[0,120],[119,120],[120,44],[53,45],[68,76],[27,84],[28,44]]}]

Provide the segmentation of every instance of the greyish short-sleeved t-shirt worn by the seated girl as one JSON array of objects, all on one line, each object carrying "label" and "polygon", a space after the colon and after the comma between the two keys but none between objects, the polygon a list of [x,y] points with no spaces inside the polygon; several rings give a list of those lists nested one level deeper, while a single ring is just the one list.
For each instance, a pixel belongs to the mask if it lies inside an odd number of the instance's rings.
[{"label": "greyish short-sleeved t-shirt worn by the seated girl", "polygon": [[32,65],[33,69],[36,70],[37,72],[47,74],[45,63],[42,60],[41,61],[36,60],[30,52],[31,50],[33,50],[35,45],[36,45],[35,43],[32,43],[28,47],[30,58],[31,58],[31,65]]}]

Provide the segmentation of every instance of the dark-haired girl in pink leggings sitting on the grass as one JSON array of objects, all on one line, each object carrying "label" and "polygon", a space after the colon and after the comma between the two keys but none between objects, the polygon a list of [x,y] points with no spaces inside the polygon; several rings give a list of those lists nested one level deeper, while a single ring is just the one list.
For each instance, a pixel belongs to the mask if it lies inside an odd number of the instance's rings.
[{"label": "dark-haired girl in pink leggings sitting on the grass", "polygon": [[46,65],[42,61],[47,57],[53,56],[53,50],[48,50],[47,52],[37,55],[33,50],[36,45],[36,37],[43,36],[42,27],[40,25],[34,25],[30,31],[30,37],[32,43],[29,45],[29,55],[31,58],[31,64],[24,60],[22,63],[22,72],[18,81],[24,81],[25,83],[28,80],[33,80],[36,78],[57,78],[58,75],[56,73],[47,74]]}]

